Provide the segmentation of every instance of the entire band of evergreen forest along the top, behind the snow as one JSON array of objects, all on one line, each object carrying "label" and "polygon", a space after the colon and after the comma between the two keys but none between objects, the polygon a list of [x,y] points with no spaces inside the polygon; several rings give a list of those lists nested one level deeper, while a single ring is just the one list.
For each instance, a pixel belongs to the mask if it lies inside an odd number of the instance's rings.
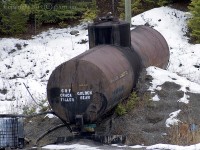
[{"label": "entire band of evergreen forest along the top, behind the snow", "polygon": [[[27,38],[50,27],[65,28],[108,12],[123,19],[124,3],[125,0],[0,0],[0,37]],[[190,13],[191,42],[200,43],[200,0],[132,0],[132,16],[176,3]]]}]

